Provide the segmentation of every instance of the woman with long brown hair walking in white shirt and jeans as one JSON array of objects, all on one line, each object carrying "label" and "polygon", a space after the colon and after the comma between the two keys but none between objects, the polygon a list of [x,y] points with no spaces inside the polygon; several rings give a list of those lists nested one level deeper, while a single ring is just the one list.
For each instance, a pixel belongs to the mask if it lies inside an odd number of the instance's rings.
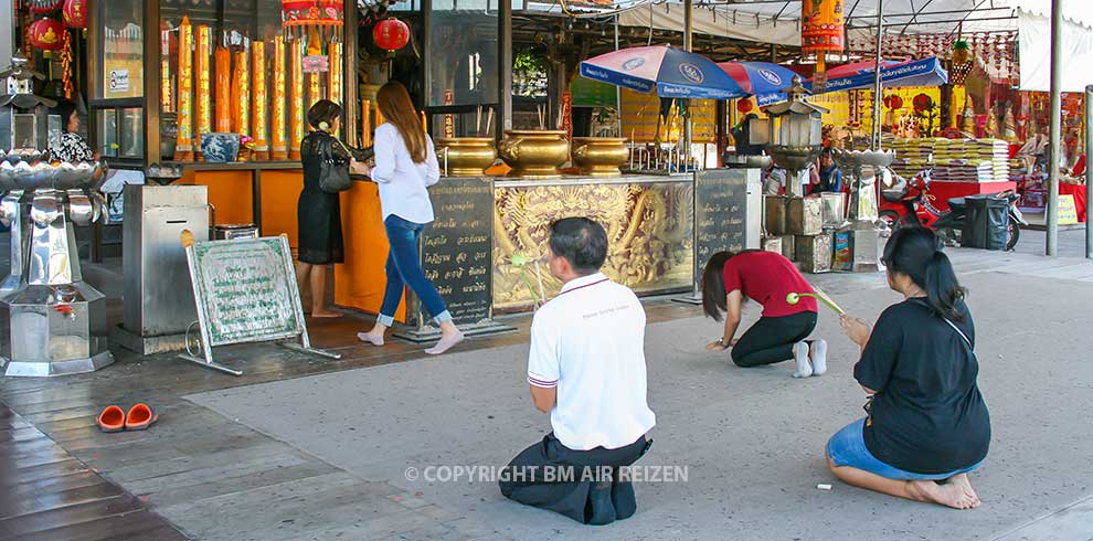
[{"label": "woman with long brown hair walking in white shirt and jeans", "polygon": [[380,316],[372,330],[357,337],[383,346],[383,333],[394,323],[403,288],[410,286],[441,326],[441,340],[425,352],[441,354],[463,341],[463,332],[452,322],[441,294],[425,277],[417,253],[422,232],[434,218],[426,188],[441,180],[441,168],[433,140],[421,125],[406,87],[390,82],[380,87],[375,100],[386,123],[375,128],[375,167],[370,173],[380,188],[380,208],[391,252]]}]

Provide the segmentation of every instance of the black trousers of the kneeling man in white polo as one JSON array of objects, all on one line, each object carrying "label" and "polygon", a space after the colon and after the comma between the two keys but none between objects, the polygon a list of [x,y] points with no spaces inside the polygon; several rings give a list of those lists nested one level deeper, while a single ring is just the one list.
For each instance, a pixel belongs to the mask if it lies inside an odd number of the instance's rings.
[{"label": "black trousers of the kneeling man in white polo", "polygon": [[523,449],[505,468],[501,495],[527,506],[564,515],[585,524],[609,524],[637,511],[634,485],[618,468],[641,458],[645,436],[617,449],[573,450],[548,434]]}]

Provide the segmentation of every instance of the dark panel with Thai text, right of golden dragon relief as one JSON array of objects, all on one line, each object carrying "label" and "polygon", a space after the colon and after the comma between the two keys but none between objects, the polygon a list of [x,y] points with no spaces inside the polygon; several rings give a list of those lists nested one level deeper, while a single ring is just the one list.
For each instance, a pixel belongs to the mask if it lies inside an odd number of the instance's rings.
[{"label": "dark panel with Thai text, right of golden dragon relief", "polygon": [[747,247],[749,169],[707,169],[694,173],[694,283],[718,252]]}]

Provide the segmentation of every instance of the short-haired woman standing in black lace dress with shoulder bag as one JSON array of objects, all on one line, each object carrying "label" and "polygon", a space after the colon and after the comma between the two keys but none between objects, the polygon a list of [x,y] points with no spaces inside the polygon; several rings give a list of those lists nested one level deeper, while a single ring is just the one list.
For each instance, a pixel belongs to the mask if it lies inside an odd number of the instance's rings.
[{"label": "short-haired woman standing in black lace dress with shoulder bag", "polygon": [[339,314],[327,307],[327,267],[344,261],[341,238],[341,204],[337,193],[319,187],[322,158],[329,151],[335,161],[347,169],[357,168],[363,161],[363,151],[350,149],[331,134],[338,130],[341,106],[322,99],[307,113],[312,131],[300,141],[300,161],[304,165],[304,191],[297,208],[299,225],[299,263],[296,279],[300,290],[310,285],[311,317],[332,318]]}]

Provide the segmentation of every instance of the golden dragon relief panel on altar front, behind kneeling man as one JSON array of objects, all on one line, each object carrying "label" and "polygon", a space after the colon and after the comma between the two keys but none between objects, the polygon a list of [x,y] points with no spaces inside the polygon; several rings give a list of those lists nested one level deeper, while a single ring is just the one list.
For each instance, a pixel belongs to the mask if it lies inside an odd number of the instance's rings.
[{"label": "golden dragon relief panel on altar front, behind kneeling man", "polygon": [[[558,294],[562,284],[546,266],[546,238],[551,222],[569,216],[590,218],[607,230],[603,270],[612,279],[638,293],[691,285],[690,182],[534,185],[497,188],[494,193],[496,309],[530,306],[540,277],[548,299]],[[527,279],[512,264],[514,254],[527,258]]]}]

